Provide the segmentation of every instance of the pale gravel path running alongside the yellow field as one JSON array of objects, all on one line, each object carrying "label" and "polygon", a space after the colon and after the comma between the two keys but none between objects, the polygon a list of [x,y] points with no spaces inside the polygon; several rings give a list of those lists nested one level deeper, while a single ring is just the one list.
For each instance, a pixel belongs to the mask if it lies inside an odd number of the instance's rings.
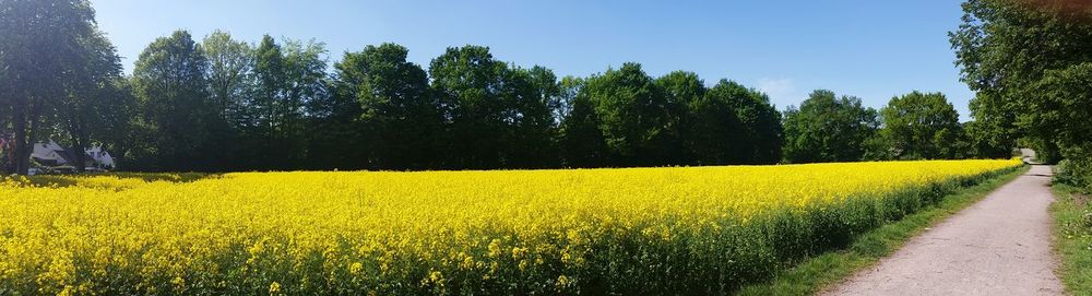
[{"label": "pale gravel path running alongside the yellow field", "polygon": [[1051,168],[1030,171],[826,295],[1059,295]]}]

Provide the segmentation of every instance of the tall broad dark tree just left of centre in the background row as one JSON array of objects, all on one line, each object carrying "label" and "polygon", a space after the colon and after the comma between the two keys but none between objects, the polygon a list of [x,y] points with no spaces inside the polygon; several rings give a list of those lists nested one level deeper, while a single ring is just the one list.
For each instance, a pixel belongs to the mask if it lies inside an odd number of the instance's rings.
[{"label": "tall broad dark tree just left of centre in the background row", "polygon": [[555,163],[550,106],[558,86],[544,68],[509,68],[489,48],[448,48],[429,67],[447,126],[444,167],[543,167]]}]

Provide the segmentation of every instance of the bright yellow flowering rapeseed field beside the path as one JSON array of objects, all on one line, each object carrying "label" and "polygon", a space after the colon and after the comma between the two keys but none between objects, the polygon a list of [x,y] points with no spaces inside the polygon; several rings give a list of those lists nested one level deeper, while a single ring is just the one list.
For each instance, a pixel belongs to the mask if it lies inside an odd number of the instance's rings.
[{"label": "bright yellow flowering rapeseed field beside the path", "polygon": [[1020,165],[9,179],[0,295],[715,294]]}]

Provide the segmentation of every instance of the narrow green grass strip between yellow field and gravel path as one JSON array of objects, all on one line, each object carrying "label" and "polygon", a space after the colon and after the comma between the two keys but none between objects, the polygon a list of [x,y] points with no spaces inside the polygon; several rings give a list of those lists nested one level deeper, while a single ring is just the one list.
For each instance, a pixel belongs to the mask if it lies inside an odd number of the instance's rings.
[{"label": "narrow green grass strip between yellow field and gravel path", "polygon": [[[958,190],[940,203],[854,239],[848,248],[804,260],[780,272],[772,281],[744,286],[739,295],[811,295],[838,284],[860,269],[875,264],[930,225],[974,204],[998,187],[1031,169],[1030,166]],[[1085,257],[1092,260],[1092,257]],[[1092,262],[1084,262],[1092,264]],[[1088,273],[1087,275],[1092,274]]]}]

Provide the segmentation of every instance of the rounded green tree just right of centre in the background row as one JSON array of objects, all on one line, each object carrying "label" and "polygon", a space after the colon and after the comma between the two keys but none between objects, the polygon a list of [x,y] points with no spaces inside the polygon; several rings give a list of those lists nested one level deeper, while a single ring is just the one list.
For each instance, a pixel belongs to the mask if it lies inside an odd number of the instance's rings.
[{"label": "rounded green tree just right of centre in the background row", "polygon": [[[664,143],[673,139],[669,106],[652,78],[638,63],[589,78],[586,93],[600,120],[600,130],[618,165],[673,165],[679,155],[667,154]],[[670,145],[674,146],[674,145]]]}]

